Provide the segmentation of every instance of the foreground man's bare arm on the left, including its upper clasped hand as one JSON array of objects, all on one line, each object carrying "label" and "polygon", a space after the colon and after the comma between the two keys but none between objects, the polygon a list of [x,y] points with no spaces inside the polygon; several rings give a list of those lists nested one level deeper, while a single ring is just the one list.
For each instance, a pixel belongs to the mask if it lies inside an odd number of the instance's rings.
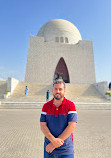
[{"label": "foreground man's bare arm on the left, including its upper clasped hand", "polygon": [[54,148],[58,148],[61,145],[63,145],[63,140],[61,138],[55,138],[50,130],[47,127],[47,123],[46,122],[40,122],[40,127],[41,127],[41,131],[43,132],[43,134],[50,140],[50,142],[53,144]]}]

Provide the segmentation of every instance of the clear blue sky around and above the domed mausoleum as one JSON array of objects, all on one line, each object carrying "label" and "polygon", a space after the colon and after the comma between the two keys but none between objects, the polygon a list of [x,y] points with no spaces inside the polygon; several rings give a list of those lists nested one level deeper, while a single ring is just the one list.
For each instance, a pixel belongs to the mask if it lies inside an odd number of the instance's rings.
[{"label": "clear blue sky around and above the domed mausoleum", "polygon": [[0,0],[0,78],[24,81],[29,37],[53,19],[93,41],[96,82],[110,82],[111,0]]}]

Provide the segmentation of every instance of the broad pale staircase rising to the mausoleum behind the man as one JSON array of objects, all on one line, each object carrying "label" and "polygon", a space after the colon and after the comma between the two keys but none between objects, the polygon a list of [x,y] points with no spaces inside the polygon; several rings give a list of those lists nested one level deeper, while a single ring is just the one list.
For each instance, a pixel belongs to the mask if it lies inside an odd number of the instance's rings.
[{"label": "broad pale staircase rising to the mausoleum behind the man", "polygon": [[[29,88],[28,96],[24,94],[26,85]],[[20,82],[14,93],[6,99],[7,101],[46,101],[46,91],[50,90],[50,99],[53,98],[52,95],[52,84],[46,83],[25,83]],[[90,84],[66,84],[65,97],[72,101],[79,102],[107,102],[99,92],[96,90],[94,85]],[[4,99],[1,99],[3,101]],[[4,100],[5,101],[5,100]]]}]

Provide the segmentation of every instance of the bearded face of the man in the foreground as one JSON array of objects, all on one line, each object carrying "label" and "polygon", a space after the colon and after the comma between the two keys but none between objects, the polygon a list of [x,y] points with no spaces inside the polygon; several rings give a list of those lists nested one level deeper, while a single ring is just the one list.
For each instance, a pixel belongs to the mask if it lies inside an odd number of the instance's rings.
[{"label": "bearded face of the man in the foreground", "polygon": [[63,83],[54,84],[52,89],[53,96],[56,100],[64,98],[65,88]]}]

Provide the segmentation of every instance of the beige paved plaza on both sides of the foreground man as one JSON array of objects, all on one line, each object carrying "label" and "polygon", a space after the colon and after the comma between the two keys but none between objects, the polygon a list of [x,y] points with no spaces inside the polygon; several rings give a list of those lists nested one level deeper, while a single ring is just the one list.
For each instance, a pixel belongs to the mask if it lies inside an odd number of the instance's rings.
[{"label": "beige paved plaza on both sides of the foreground man", "polygon": [[[0,109],[0,158],[43,158],[41,109]],[[111,157],[111,110],[80,110],[75,158]]]}]

